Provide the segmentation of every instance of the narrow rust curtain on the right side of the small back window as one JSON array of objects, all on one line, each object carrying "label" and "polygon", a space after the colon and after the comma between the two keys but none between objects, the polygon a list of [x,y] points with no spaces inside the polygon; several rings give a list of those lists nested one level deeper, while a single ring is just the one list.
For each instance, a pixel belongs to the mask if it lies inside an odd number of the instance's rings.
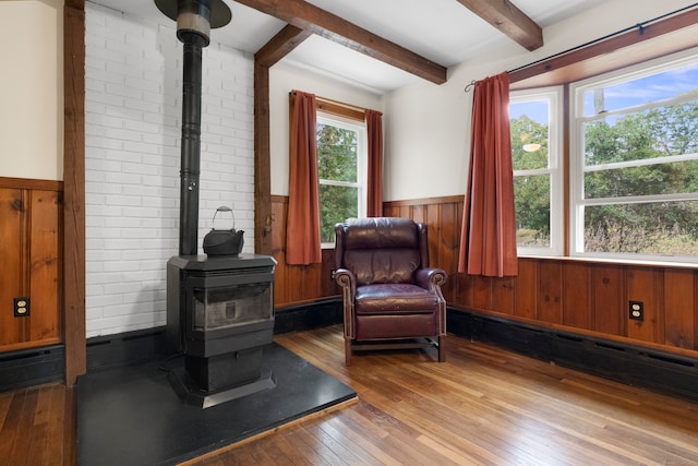
[{"label": "narrow rust curtain on the right side of the small back window", "polygon": [[366,217],[383,216],[383,113],[366,110],[369,136],[369,172]]}]

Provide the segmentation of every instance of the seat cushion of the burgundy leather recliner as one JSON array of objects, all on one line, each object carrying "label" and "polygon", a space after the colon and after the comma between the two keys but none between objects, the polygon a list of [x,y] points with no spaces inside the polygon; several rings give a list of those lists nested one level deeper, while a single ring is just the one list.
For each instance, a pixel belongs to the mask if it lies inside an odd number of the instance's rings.
[{"label": "seat cushion of the burgundy leather recliner", "polygon": [[438,298],[411,284],[377,284],[357,287],[357,315],[430,314],[438,311]]}]

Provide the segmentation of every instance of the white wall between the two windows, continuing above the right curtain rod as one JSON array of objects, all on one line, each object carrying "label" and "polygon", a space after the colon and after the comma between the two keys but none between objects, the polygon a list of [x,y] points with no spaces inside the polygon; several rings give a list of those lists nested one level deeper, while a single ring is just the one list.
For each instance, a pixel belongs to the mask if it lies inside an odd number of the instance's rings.
[{"label": "white wall between the two windows, continuing above the right curtain rod", "polygon": [[686,0],[609,0],[547,27],[545,45],[528,52],[512,43],[448,70],[448,82],[418,83],[386,96],[384,200],[460,195],[466,191],[472,93],[464,88],[693,4]]}]

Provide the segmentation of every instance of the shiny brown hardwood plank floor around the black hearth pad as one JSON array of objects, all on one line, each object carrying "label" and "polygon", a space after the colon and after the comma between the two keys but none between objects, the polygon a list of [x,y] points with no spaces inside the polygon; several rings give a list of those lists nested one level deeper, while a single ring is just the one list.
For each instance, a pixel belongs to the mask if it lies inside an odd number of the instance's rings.
[{"label": "shiny brown hardwood plank floor around the black hearth pad", "polygon": [[[436,353],[368,353],[344,366],[341,327],[276,340],[359,401],[191,465],[694,465],[698,404],[452,337]],[[70,465],[74,397],[0,394],[0,465]]]}]

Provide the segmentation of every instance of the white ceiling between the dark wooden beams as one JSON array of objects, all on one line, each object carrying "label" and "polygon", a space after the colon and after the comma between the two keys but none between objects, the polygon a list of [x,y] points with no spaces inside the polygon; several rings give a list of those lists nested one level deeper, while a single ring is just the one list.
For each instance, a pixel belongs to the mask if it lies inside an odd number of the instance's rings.
[{"label": "white ceiling between the dark wooden beams", "polygon": [[[88,1],[148,22],[172,24],[153,0]],[[232,21],[213,29],[212,41],[254,53],[286,25],[232,0],[224,1],[232,11]],[[456,0],[306,1],[444,67],[461,63],[489,47],[512,40]],[[606,0],[513,0],[513,3],[545,28],[603,1]],[[420,80],[318,36],[303,41],[282,62],[332,75],[377,94]]]}]

